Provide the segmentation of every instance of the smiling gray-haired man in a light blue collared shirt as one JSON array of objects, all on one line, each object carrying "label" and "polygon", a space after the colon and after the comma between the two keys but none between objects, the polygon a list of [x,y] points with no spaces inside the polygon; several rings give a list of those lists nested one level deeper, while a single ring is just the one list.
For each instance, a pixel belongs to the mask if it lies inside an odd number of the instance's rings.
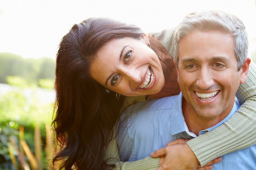
[{"label": "smiling gray-haired man in a light blue collared shirt", "polygon": [[[182,93],[125,111],[118,133],[122,161],[149,156],[174,139],[207,133],[240,106],[236,91],[246,82],[250,65],[241,20],[223,12],[189,14],[177,26],[172,47]],[[253,169],[256,145],[222,158],[213,169]]]}]

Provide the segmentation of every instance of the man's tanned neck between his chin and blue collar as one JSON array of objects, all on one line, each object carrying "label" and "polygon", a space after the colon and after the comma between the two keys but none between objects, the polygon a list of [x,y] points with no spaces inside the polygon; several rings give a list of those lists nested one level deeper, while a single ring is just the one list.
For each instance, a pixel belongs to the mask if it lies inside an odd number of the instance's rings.
[{"label": "man's tanned neck between his chin and blue collar", "polygon": [[189,105],[185,101],[185,99],[183,99],[182,103],[182,110],[185,122],[189,127],[189,131],[195,133],[196,135],[199,135],[201,130],[213,127],[216,124],[218,124],[218,122],[224,120],[224,118],[230,114],[230,111],[232,111],[233,108],[233,105],[231,105],[226,109],[226,111],[224,111],[224,113],[220,114],[219,116],[209,118],[205,116],[199,116],[198,114],[196,114],[191,105]]}]

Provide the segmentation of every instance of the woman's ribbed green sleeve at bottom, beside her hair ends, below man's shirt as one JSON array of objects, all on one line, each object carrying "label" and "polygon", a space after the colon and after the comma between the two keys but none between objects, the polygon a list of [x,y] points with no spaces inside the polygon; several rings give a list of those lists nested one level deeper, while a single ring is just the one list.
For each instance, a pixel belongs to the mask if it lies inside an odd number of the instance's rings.
[{"label": "woman's ribbed green sleeve at bottom, beside her hair ends, below man's shirt", "polygon": [[120,161],[119,150],[116,139],[112,139],[111,143],[108,144],[106,159],[108,164],[115,164],[116,170],[134,170],[134,169],[144,169],[144,170],[155,170],[159,167],[159,158],[146,157],[138,161]]}]

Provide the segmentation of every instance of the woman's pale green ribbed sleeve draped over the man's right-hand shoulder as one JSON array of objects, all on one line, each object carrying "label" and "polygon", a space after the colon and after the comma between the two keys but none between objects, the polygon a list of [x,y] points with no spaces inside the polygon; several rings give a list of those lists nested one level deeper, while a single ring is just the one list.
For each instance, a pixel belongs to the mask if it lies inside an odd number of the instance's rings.
[{"label": "woman's pale green ribbed sleeve draped over the man's right-hand shoulder", "polygon": [[236,97],[243,103],[227,122],[187,144],[201,166],[224,154],[256,144],[256,66],[250,65],[247,82],[240,85]]}]

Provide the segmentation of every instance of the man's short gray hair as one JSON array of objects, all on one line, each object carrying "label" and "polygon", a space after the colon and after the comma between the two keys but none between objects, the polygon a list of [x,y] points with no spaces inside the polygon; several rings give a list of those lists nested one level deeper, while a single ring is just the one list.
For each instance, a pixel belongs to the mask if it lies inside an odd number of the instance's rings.
[{"label": "man's short gray hair", "polygon": [[227,14],[222,11],[206,11],[201,13],[188,14],[177,26],[173,33],[170,52],[172,57],[178,62],[179,41],[189,34],[189,32],[198,31],[223,31],[230,33],[234,37],[236,59],[238,61],[238,70],[247,58],[247,32],[242,21],[233,14]]}]

